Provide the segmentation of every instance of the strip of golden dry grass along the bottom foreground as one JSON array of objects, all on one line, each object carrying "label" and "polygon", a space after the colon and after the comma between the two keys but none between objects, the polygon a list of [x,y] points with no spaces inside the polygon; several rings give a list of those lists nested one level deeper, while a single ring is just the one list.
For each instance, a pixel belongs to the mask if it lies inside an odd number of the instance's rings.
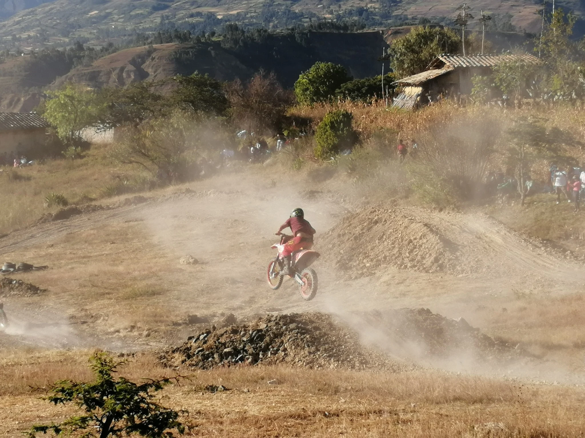
[{"label": "strip of golden dry grass along the bottom foreground", "polygon": [[[9,356],[0,371],[0,421],[6,437],[33,423],[58,421],[74,411],[51,406],[30,392],[59,378],[88,378],[89,352]],[[180,370],[185,373],[185,370]],[[133,379],[173,374],[149,354],[121,374]],[[267,381],[275,379],[276,385]],[[8,384],[7,382],[16,382]],[[228,391],[212,393],[206,385]],[[160,401],[190,411],[189,436],[404,436],[453,437],[473,426],[504,423],[515,437],[577,437],[585,429],[583,390],[522,385],[437,372],[400,374],[242,367],[196,371],[166,388]],[[488,435],[483,435],[488,436]]]}]

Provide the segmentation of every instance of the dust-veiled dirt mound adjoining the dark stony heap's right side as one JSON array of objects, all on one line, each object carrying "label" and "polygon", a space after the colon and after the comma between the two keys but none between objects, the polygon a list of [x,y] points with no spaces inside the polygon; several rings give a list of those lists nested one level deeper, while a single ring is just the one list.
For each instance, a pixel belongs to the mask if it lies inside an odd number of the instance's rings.
[{"label": "dust-veiled dirt mound adjoining the dark stony heap's right side", "polygon": [[425,308],[372,311],[360,317],[363,326],[382,332],[390,351],[397,354],[443,358],[464,354],[476,359],[512,359],[520,353],[505,341],[481,333],[463,318],[446,318]]}]

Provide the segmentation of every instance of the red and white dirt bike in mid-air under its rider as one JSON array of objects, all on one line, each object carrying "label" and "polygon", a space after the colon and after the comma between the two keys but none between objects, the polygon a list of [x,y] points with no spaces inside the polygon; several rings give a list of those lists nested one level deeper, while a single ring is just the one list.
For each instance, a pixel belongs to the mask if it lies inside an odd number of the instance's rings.
[{"label": "red and white dirt bike in mid-air under its rider", "polygon": [[[267,280],[271,289],[277,290],[283,284],[284,275],[281,270],[284,267],[284,245],[292,239],[286,234],[280,235],[280,244],[274,244],[270,248],[278,249],[278,255],[268,265]],[[297,281],[301,297],[305,301],[312,300],[317,293],[317,273],[309,266],[318,259],[320,254],[311,249],[300,249],[291,256],[291,269],[289,277]]]}]

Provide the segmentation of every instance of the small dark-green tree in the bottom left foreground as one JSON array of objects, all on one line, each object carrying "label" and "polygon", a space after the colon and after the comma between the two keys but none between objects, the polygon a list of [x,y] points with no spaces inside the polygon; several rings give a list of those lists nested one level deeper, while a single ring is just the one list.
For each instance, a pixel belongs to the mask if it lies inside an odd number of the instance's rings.
[{"label": "small dark-green tree in the bottom left foreground", "polygon": [[61,380],[50,386],[47,397],[56,405],[72,402],[85,412],[59,424],[36,425],[29,432],[35,438],[39,432],[56,435],[82,433],[84,437],[118,437],[137,433],[150,438],[173,437],[170,429],[183,434],[185,426],[178,418],[184,411],[165,408],[153,400],[156,392],[177,378],[149,380],[137,384],[113,373],[124,362],[116,362],[106,353],[91,358],[93,382]]}]

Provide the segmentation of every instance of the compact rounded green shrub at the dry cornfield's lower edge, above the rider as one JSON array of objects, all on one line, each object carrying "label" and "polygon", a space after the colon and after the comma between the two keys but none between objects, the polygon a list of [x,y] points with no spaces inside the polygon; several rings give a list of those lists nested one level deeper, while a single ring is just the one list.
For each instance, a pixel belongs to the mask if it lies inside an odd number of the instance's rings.
[{"label": "compact rounded green shrub at the dry cornfield's lower edge, above the rider", "polygon": [[353,116],[345,110],[329,111],[315,133],[315,158],[326,159],[353,147],[357,140],[352,128]]}]

